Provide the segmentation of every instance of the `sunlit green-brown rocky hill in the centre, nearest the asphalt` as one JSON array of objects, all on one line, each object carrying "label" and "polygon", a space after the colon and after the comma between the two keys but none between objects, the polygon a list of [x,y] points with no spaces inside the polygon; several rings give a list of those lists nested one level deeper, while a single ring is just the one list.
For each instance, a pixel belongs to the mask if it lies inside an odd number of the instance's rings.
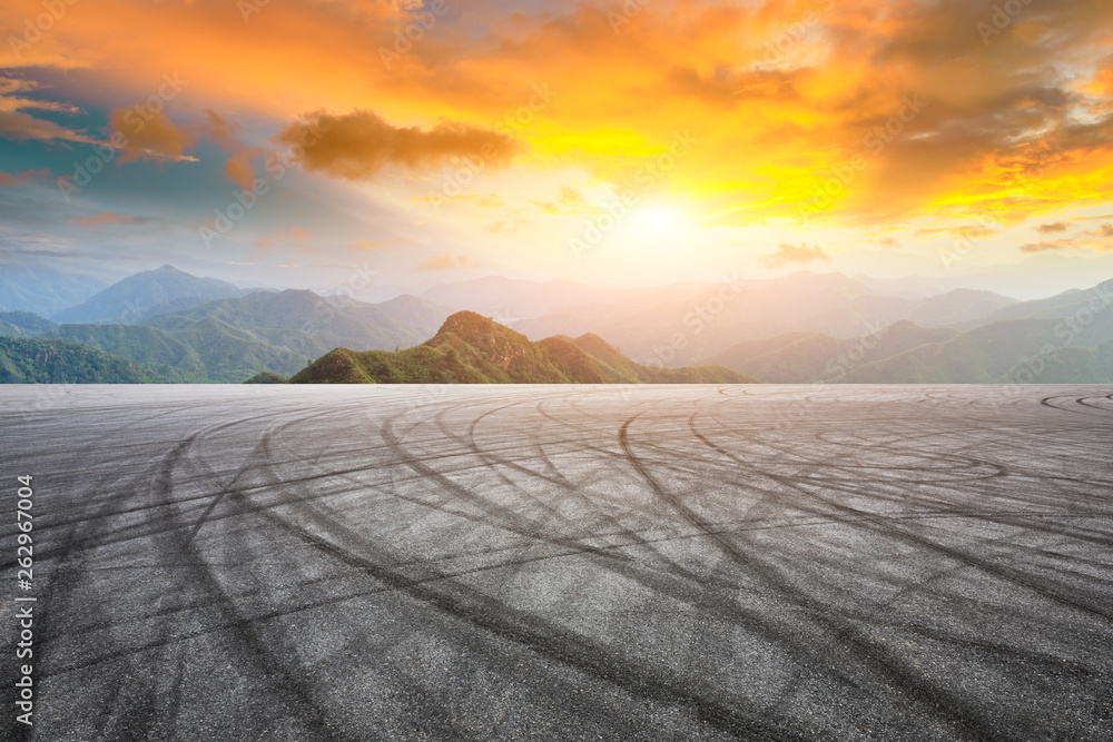
[{"label": "sunlit green-brown rocky hill in the centre, nearest the asphalt", "polygon": [[[598,354],[598,355],[595,355]],[[396,353],[337,348],[294,384],[751,384],[722,367],[647,368],[598,337],[528,337],[472,311],[449,317],[429,342]]]}]

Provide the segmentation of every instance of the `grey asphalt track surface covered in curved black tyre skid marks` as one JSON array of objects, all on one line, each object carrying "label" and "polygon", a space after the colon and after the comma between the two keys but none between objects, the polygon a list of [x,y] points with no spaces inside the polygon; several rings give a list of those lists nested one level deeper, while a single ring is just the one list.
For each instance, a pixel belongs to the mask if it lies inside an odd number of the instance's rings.
[{"label": "grey asphalt track surface covered in curved black tyre skid marks", "polygon": [[33,736],[1110,740],[1111,392],[7,387]]}]

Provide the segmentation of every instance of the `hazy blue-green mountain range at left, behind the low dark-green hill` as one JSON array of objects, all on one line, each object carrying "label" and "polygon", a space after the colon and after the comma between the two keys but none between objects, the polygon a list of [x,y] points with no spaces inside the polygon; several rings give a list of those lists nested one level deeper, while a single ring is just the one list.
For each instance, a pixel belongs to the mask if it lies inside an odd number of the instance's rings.
[{"label": "hazy blue-green mountain range at left, behind the low dark-green hill", "polygon": [[[248,293],[164,266],[109,286],[55,321],[0,313],[0,335],[77,343],[169,382],[239,383],[262,372],[288,376],[339,346],[410,347],[449,314],[413,296],[377,307],[306,290]],[[86,321],[57,321],[78,318]]]}]

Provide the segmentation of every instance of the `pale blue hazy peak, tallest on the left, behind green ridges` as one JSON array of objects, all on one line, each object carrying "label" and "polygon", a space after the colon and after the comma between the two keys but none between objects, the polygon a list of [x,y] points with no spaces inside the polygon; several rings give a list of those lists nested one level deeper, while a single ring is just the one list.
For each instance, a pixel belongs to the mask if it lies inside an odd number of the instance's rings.
[{"label": "pale blue hazy peak, tallest on the left, behind green ridges", "polygon": [[243,296],[244,289],[216,278],[198,278],[162,266],[112,284],[89,300],[63,309],[53,320],[134,325],[160,310],[180,310],[205,301]]}]

